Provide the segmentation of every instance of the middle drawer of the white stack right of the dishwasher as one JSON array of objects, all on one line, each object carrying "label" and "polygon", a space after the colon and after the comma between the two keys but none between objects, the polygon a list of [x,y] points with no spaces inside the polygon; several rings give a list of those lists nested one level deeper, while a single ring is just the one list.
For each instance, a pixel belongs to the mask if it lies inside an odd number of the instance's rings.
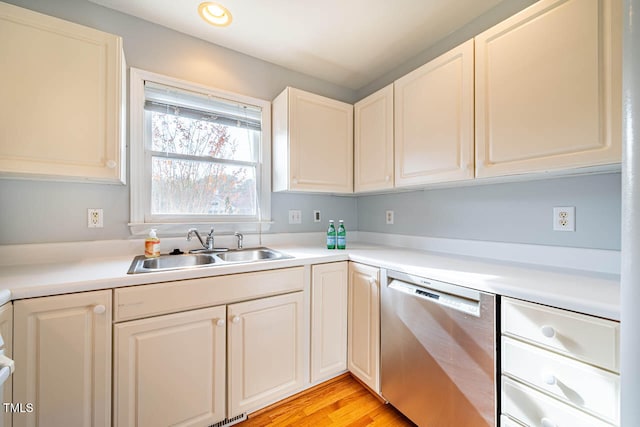
[{"label": "middle drawer of the white stack right of the dishwasher", "polygon": [[618,423],[620,377],[616,374],[506,337],[502,338],[502,373]]}]

